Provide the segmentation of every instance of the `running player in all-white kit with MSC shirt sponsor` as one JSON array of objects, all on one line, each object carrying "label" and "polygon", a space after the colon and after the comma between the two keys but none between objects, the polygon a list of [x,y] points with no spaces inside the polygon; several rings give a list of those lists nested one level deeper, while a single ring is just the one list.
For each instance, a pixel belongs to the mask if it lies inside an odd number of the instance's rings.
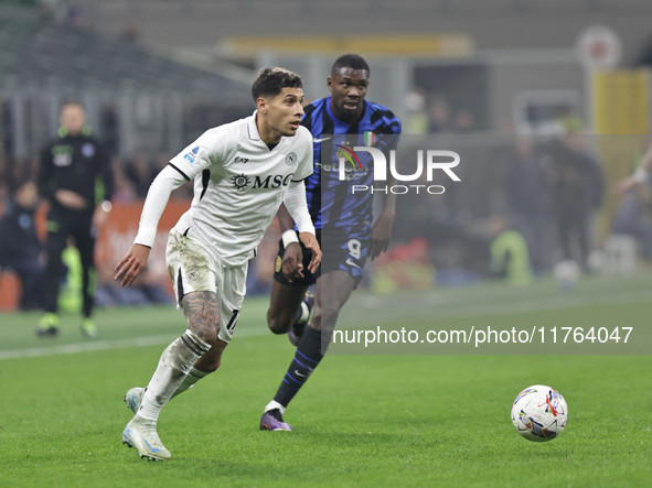
[{"label": "running player in all-white kit with MSC shirt sponsor", "polygon": [[[116,265],[116,280],[129,286],[145,268],[170,193],[194,178],[190,209],[170,231],[165,259],[185,333],[163,351],[122,443],[140,457],[170,459],[157,433],[161,408],[177,392],[216,370],[237,324],[245,297],[248,260],[285,203],[312,250],[321,251],[306,203],[303,180],[312,174],[312,135],[300,126],[301,78],[287,69],[264,68],[252,87],[252,117],[204,132],[153,181],[138,235]],[[190,373],[190,375],[189,375]],[[179,391],[178,391],[179,390]],[[131,391],[131,390],[130,390]]]}]

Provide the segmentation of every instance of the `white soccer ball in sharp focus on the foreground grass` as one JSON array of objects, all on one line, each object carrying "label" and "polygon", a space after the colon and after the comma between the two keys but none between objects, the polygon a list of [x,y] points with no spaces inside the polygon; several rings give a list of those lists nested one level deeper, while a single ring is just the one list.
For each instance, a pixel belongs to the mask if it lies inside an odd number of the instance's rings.
[{"label": "white soccer ball in sharp focus on the foreground grass", "polygon": [[528,441],[552,441],[568,422],[568,405],[557,390],[543,384],[523,390],[512,405],[512,423]]}]

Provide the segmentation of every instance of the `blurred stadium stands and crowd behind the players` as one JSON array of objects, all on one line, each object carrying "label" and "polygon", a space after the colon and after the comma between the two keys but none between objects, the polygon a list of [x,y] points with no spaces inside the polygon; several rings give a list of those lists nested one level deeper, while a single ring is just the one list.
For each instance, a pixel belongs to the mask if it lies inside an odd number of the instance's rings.
[{"label": "blurred stadium stands and crowd behind the players", "polygon": [[[163,242],[189,206],[190,185],[173,195],[141,280],[154,291],[111,284],[153,175],[207,128],[253,111],[259,67],[296,71],[310,100],[328,95],[333,59],[355,52],[372,67],[367,98],[402,118],[404,147],[455,148],[462,156],[462,183],[398,199],[392,250],[370,267],[365,286],[527,284],[500,269],[493,245],[509,230],[525,239],[531,274],[547,275],[566,258],[558,220],[568,210],[547,161],[566,150],[588,162],[574,200],[586,208],[577,225],[588,249],[571,236],[573,259],[587,273],[645,270],[649,187],[624,197],[610,188],[649,143],[651,15],[643,0],[6,0],[0,206],[12,205],[20,182],[35,174],[62,102],[82,100],[116,180],[97,247],[98,302],[169,301]],[[41,206],[41,237],[44,215]],[[268,291],[277,241],[272,227],[250,267],[250,294]],[[19,296],[20,280],[3,265],[0,306],[15,310]]]}]

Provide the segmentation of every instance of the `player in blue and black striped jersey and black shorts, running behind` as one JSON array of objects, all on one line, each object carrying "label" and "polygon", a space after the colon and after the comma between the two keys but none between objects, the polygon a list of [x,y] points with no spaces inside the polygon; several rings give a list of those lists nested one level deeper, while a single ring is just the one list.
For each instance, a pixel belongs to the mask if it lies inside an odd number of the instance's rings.
[{"label": "player in blue and black striped jersey and black shorts, running behind", "polygon": [[[281,206],[282,240],[267,322],[275,334],[288,333],[297,353],[265,408],[261,430],[292,430],[282,420],[286,408],[322,360],[322,340],[330,343],[340,308],[357,288],[366,259],[376,258],[389,242],[395,196],[383,194],[383,209],[372,225],[373,195],[371,191],[353,193],[353,185],[373,186],[373,160],[362,151],[355,153],[355,161],[342,159],[362,145],[388,154],[398,141],[400,120],[385,107],[365,100],[368,84],[367,63],[355,54],[343,55],[328,78],[331,95],[304,108],[301,124],[312,133],[314,153],[314,172],[306,182],[306,194],[323,258],[320,268],[310,273],[311,253],[299,242],[293,221]],[[340,181],[342,163],[348,165],[344,181]],[[392,182],[384,183],[389,186]],[[307,294],[313,283],[314,297]]]}]

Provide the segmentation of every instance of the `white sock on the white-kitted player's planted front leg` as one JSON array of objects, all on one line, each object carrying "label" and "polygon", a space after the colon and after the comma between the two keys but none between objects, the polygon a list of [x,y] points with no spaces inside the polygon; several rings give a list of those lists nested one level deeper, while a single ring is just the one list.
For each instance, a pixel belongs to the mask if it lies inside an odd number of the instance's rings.
[{"label": "white sock on the white-kitted player's planted front leg", "polygon": [[192,330],[185,330],[185,334],[170,344],[161,355],[159,366],[147,386],[137,415],[156,422],[161,409],[183,382],[192,365],[210,348]]}]

